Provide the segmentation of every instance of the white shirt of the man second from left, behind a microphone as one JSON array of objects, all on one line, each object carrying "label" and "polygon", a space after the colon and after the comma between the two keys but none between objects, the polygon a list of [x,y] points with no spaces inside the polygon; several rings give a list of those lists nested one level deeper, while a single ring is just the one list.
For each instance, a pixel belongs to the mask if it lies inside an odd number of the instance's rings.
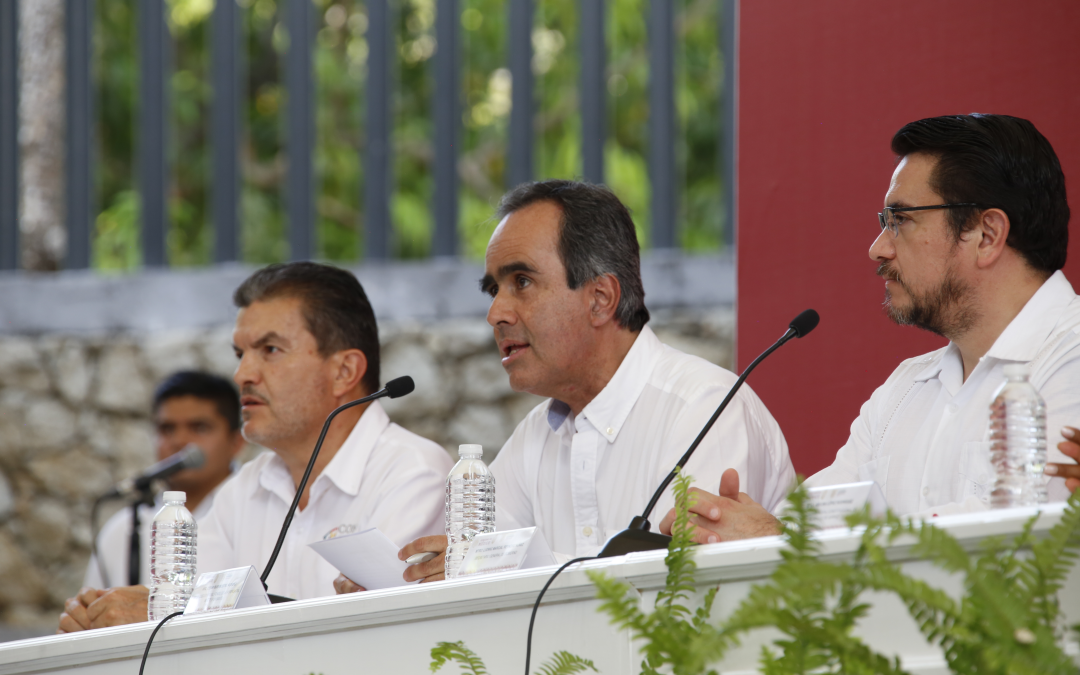
[{"label": "white shirt of the man second from left, behind a microphone", "polygon": [[[270,578],[269,592],[295,599],[334,595],[338,570],[308,544],[378,527],[399,545],[443,534],[449,455],[391,423],[379,402],[364,411],[297,511]],[[285,462],[264,453],[221,489],[199,524],[199,571],[246,565],[261,575],[296,496]]]}]

